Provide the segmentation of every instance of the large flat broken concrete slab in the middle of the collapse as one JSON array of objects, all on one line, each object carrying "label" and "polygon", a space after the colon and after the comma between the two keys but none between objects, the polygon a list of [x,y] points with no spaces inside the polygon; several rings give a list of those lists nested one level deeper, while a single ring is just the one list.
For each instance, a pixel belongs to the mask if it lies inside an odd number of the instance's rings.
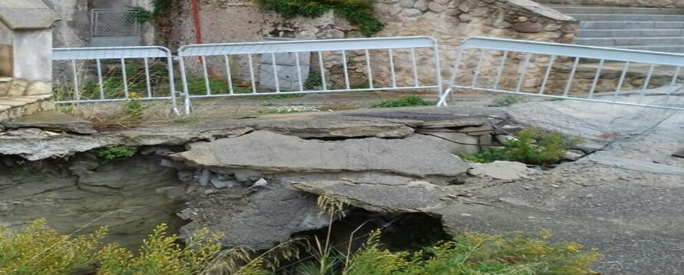
[{"label": "large flat broken concrete slab in the middle of the collapse", "polygon": [[377,171],[398,175],[456,177],[470,166],[452,155],[452,142],[426,135],[401,140],[324,142],[268,131],[192,146],[171,157],[194,166],[278,172]]}]

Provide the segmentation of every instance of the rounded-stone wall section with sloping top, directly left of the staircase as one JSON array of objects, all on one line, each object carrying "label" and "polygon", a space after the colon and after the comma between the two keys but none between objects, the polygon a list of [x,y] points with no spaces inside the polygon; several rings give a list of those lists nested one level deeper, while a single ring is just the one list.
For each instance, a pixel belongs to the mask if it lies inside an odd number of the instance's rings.
[{"label": "rounded-stone wall section with sloping top, directly left of the staircase", "polygon": [[[379,18],[385,24],[378,36],[428,35],[441,46],[443,76],[450,76],[456,61],[456,46],[470,36],[490,36],[555,43],[572,43],[577,22],[560,12],[527,0],[381,0],[376,4]],[[459,83],[472,80],[479,54],[464,52],[459,67]],[[520,54],[507,57],[501,81],[514,83],[523,61]],[[480,79],[494,79],[493,67],[501,60],[499,54],[487,54],[482,63]],[[541,75],[544,58],[531,59],[530,74]],[[406,67],[406,63],[397,64]],[[426,66],[430,70],[432,66]],[[430,72],[424,72],[432,75]],[[525,86],[539,85],[532,80]]]}]

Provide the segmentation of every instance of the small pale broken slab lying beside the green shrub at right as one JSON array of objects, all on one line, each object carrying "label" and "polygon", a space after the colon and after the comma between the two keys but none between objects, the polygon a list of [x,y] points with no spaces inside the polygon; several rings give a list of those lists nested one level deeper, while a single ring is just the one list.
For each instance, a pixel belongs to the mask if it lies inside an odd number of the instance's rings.
[{"label": "small pale broken slab lying beside the green shrub at right", "polygon": [[538,170],[528,168],[527,164],[520,162],[496,161],[487,164],[472,164],[468,170],[469,175],[476,177],[491,177],[492,179],[522,179],[539,173]]}]

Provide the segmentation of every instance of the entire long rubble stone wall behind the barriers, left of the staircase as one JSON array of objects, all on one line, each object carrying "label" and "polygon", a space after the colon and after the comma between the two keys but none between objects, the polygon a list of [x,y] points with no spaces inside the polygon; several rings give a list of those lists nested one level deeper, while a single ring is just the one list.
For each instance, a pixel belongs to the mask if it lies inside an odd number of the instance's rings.
[{"label": "entire long rubble stone wall behind the barriers, left of the staircase", "polygon": [[[384,30],[373,36],[432,36],[437,39],[441,45],[439,54],[443,76],[450,73],[455,60],[454,48],[469,36],[571,43],[577,29],[571,17],[528,0],[379,0],[375,10]],[[362,37],[355,26],[332,12],[315,19],[284,19],[274,12],[261,10],[252,1],[202,0],[199,17],[203,43],[261,41],[263,37],[272,36],[298,39]],[[195,43],[189,3],[180,3],[169,18],[168,22],[162,23],[166,32],[161,32],[158,37],[159,41],[164,41],[162,45],[176,47]],[[434,52],[419,50],[416,54],[420,67],[419,81],[435,84]],[[340,57],[339,54],[324,55],[327,76],[333,87],[344,83]],[[367,83],[364,52],[348,52],[347,58],[352,85]],[[313,56],[312,59],[316,61],[318,58]],[[472,56],[467,56],[465,64],[473,67],[472,59]],[[199,61],[193,59],[188,62],[191,71],[201,72]],[[258,68],[258,62],[254,61],[255,68]],[[517,64],[519,60],[511,58],[511,62]],[[239,65],[231,68],[232,74],[248,79],[245,58],[233,63]],[[375,87],[386,86],[390,74],[387,52],[371,52],[371,63]],[[210,74],[225,75],[222,58],[213,61],[210,58],[208,64]],[[311,67],[316,68],[318,64],[313,62]],[[395,51],[395,71],[398,85],[413,83],[408,50]]]}]

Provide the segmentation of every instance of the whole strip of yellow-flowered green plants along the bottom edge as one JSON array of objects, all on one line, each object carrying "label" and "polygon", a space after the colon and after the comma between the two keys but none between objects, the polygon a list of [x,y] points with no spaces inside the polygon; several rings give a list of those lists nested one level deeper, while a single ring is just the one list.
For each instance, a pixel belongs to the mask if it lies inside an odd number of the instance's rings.
[{"label": "whole strip of yellow-flowered green plants along the bottom edge", "polygon": [[[333,223],[344,216],[345,202],[323,194],[322,215]],[[325,216],[324,216],[325,217]],[[117,244],[104,244],[107,228],[83,236],[61,236],[45,228],[45,220],[22,230],[0,228],[0,274],[98,275],[588,275],[586,265],[599,254],[577,243],[549,243],[550,233],[530,238],[520,233],[465,233],[413,251],[391,251],[380,243],[380,232],[368,234],[356,251],[318,236],[306,246],[308,254],[278,245],[263,254],[244,248],[221,251],[221,234],[198,230],[184,245],[159,225],[134,255]],[[98,249],[99,248],[99,249]],[[282,263],[281,263],[282,261]],[[276,273],[277,272],[277,273]]]}]

